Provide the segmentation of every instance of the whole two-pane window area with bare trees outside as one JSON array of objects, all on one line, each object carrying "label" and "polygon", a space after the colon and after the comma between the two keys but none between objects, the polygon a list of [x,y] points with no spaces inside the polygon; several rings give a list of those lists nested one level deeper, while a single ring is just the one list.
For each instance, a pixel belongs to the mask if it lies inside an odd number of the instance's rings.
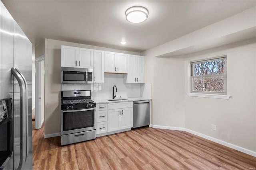
[{"label": "whole two-pane window area with bare trees outside", "polygon": [[226,92],[226,57],[192,62],[192,92]]}]

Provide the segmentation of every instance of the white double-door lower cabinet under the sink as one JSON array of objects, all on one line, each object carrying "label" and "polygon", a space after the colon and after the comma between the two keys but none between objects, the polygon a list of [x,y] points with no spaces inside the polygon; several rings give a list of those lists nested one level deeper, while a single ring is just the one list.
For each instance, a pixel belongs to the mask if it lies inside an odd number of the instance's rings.
[{"label": "white double-door lower cabinet under the sink", "polygon": [[[128,106],[130,102],[111,103],[108,108],[116,108],[118,106]],[[110,106],[111,105],[111,106]],[[108,132],[118,131],[121,129],[132,128],[133,108],[118,108],[108,110]]]}]

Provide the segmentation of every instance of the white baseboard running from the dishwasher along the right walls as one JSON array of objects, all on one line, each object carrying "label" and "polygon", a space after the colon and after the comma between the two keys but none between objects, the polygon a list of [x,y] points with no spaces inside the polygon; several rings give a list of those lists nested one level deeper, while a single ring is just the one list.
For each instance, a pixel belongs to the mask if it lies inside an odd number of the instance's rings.
[{"label": "white baseboard running from the dishwasher along the right walls", "polygon": [[158,129],[170,129],[170,130],[186,131],[188,133],[194,134],[194,135],[202,137],[204,139],[208,139],[210,141],[216,142],[216,143],[218,143],[220,145],[224,145],[226,147],[229,147],[229,148],[232,148],[232,149],[235,149],[235,150],[238,150],[240,152],[244,152],[246,154],[249,154],[249,155],[252,155],[252,156],[256,157],[256,152],[254,152],[252,150],[239,147],[239,146],[234,145],[232,143],[228,143],[228,142],[222,141],[220,139],[216,139],[214,137],[210,137],[210,136],[204,135],[202,133],[198,133],[196,131],[192,131],[190,129],[186,129],[186,128],[183,128],[183,127],[170,127],[170,126],[160,126],[160,125],[152,125],[151,127],[158,128]]}]

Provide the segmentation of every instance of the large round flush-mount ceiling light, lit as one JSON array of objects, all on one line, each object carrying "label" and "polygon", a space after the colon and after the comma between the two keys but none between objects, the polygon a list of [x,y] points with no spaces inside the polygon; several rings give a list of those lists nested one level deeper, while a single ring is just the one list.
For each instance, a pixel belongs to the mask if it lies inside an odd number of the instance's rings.
[{"label": "large round flush-mount ceiling light, lit", "polygon": [[142,6],[133,6],[125,12],[126,20],[132,23],[141,23],[148,18],[148,10]]}]

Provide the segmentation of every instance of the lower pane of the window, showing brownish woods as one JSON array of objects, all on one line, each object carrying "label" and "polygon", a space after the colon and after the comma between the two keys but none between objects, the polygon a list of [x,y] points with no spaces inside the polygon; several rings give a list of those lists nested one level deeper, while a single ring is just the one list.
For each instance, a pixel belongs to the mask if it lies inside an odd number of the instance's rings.
[{"label": "lower pane of the window, showing brownish woods", "polygon": [[194,77],[192,91],[224,92],[224,76],[220,77]]}]

